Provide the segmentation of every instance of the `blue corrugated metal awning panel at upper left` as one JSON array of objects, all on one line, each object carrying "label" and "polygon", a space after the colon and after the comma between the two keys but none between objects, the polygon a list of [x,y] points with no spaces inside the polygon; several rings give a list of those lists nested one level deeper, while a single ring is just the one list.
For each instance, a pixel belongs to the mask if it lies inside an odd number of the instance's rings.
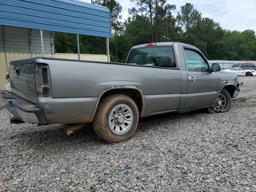
[{"label": "blue corrugated metal awning panel at upper left", "polygon": [[111,38],[110,10],[78,0],[0,0],[0,25]]}]

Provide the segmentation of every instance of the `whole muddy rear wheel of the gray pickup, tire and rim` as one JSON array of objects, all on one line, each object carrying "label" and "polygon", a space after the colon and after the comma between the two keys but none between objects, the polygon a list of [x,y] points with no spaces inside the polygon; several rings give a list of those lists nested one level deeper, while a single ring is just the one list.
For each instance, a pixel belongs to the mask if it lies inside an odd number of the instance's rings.
[{"label": "whole muddy rear wheel of the gray pickup, tire and rim", "polygon": [[133,136],[138,119],[139,112],[134,100],[123,94],[114,94],[100,102],[93,126],[99,138],[117,143]]}]

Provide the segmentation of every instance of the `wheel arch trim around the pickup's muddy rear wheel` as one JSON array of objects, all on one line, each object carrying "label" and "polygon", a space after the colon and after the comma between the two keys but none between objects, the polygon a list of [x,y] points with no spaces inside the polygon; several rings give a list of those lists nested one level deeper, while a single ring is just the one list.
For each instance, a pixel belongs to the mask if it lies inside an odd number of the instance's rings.
[{"label": "wheel arch trim around the pickup's muddy rear wheel", "polygon": [[144,102],[144,97],[143,97],[142,91],[135,86],[114,86],[114,87],[107,88],[100,93],[100,96],[98,97],[96,106],[94,108],[94,112],[92,114],[92,118],[90,119],[91,122],[95,116],[95,113],[96,113],[96,110],[98,108],[98,104],[100,103],[100,101],[104,97],[109,96],[111,94],[124,94],[124,95],[130,96],[132,98],[132,100],[134,100],[134,102],[136,103],[136,105],[138,107],[138,110],[140,113],[139,116],[140,117],[143,116],[145,102]]}]

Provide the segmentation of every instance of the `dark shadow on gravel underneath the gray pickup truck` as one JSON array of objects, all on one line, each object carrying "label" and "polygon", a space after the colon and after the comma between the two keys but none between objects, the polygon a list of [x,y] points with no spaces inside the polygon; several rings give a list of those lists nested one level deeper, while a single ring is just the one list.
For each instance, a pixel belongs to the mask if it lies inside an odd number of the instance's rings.
[{"label": "dark shadow on gravel underneath the gray pickup truck", "polygon": [[[198,114],[202,113],[205,114],[205,110],[197,110],[183,114],[168,113],[140,118],[137,132],[140,132],[140,135],[147,134],[148,131],[153,130],[156,126],[164,127],[170,124],[170,122],[175,124],[184,118],[195,118]],[[58,151],[67,152],[68,150],[76,150],[81,147],[86,150],[88,146],[100,147],[102,145],[111,145],[98,138],[94,132],[92,123],[86,124],[82,129],[77,130],[74,138],[69,138],[66,134],[66,129],[69,127],[68,125],[61,124],[39,126],[38,129],[34,127],[34,131],[28,129],[25,133],[16,135],[16,137],[20,137],[20,141],[24,142],[22,145],[25,145],[25,148],[29,148],[27,152],[31,150],[34,152],[44,150],[47,153]],[[136,133],[131,140],[132,139],[137,140]],[[56,148],[58,149],[56,150]]]}]

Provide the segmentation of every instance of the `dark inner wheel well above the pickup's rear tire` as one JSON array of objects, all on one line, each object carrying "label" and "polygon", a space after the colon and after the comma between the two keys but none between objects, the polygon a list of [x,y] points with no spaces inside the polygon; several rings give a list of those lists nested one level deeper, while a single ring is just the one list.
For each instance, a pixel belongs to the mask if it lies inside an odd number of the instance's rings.
[{"label": "dark inner wheel well above the pickup's rear tire", "polygon": [[112,94],[124,94],[132,98],[134,102],[136,103],[140,117],[142,116],[143,110],[144,110],[144,100],[143,95],[139,90],[136,89],[130,89],[130,88],[118,88],[118,89],[111,89],[105,92],[101,97],[100,101],[105,98],[106,96],[112,95]]}]

